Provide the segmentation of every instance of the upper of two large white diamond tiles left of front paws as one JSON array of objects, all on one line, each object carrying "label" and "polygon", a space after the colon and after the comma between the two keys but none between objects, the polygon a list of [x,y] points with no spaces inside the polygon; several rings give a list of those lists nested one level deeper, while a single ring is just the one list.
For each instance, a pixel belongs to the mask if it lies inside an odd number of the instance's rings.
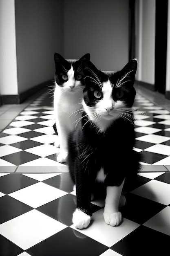
[{"label": "upper of two large white diamond tiles left of front paws", "polygon": [[56,189],[42,182],[38,182],[24,189],[15,191],[9,195],[16,200],[23,202],[24,204],[37,208],[66,194],[66,192],[60,189]]}]

